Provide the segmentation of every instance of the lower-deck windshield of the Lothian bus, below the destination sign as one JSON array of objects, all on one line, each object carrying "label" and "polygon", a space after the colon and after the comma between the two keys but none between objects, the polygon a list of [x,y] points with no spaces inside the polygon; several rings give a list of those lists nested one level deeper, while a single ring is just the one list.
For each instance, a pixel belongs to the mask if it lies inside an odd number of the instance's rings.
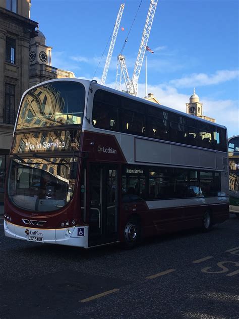
[{"label": "lower-deck windshield of the Lothian bus, below the destination sign", "polygon": [[[77,158],[74,158],[74,162]],[[12,159],[8,195],[18,207],[31,211],[52,211],[64,207],[73,197],[73,158],[36,157]]]}]

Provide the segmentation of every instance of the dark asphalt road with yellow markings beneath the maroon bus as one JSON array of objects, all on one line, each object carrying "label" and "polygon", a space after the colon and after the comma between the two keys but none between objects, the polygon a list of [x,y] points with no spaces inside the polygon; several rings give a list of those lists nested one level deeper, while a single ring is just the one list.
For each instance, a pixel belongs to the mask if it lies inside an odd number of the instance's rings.
[{"label": "dark asphalt road with yellow markings beneath the maroon bus", "polygon": [[[0,220],[2,224],[3,220]],[[0,318],[239,318],[239,219],[133,250],[17,241],[0,226]]]}]

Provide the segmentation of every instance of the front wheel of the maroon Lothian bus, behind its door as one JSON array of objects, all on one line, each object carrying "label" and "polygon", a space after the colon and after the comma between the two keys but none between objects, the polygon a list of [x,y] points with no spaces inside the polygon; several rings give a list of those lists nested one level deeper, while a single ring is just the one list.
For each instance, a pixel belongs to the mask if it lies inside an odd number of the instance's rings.
[{"label": "front wheel of the maroon Lothian bus, behind its door", "polygon": [[134,248],[140,241],[140,233],[140,223],[137,220],[128,221],[124,229],[124,248]]}]

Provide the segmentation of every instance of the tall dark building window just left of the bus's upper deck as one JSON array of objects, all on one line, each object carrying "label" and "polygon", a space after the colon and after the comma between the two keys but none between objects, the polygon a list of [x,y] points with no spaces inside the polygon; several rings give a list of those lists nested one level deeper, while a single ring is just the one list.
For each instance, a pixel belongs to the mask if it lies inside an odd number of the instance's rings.
[{"label": "tall dark building window just left of the bus's upper deck", "polygon": [[15,124],[15,85],[6,83],[4,123]]}]

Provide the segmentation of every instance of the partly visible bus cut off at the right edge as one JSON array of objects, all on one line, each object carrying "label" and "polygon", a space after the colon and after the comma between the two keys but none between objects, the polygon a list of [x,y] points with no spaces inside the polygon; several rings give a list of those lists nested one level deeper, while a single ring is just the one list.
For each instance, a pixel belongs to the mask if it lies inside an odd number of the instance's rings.
[{"label": "partly visible bus cut off at the right edge", "polygon": [[239,218],[239,135],[228,138],[230,212]]}]

